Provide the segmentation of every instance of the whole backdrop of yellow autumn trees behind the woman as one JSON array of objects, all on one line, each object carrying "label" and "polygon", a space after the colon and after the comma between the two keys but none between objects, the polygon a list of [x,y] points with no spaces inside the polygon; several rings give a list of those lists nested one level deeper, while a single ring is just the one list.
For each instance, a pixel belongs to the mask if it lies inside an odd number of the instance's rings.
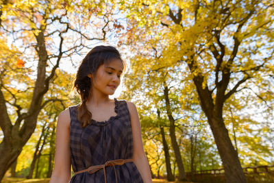
[{"label": "whole backdrop of yellow autumn trees behind the woman", "polygon": [[[271,1],[1,1],[0,180],[45,178],[56,118],[79,102],[74,74],[88,49],[128,62],[121,99],[138,106],[153,176],[273,164]],[[45,166],[45,164],[47,164]]]}]

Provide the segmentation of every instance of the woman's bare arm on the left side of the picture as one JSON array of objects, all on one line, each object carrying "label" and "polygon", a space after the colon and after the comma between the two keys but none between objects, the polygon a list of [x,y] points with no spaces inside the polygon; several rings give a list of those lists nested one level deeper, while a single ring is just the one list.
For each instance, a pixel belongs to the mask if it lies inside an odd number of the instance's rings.
[{"label": "woman's bare arm on the left side of the picture", "polygon": [[50,183],[64,183],[71,179],[71,154],[69,149],[71,117],[69,109],[58,116],[55,138],[54,169]]}]

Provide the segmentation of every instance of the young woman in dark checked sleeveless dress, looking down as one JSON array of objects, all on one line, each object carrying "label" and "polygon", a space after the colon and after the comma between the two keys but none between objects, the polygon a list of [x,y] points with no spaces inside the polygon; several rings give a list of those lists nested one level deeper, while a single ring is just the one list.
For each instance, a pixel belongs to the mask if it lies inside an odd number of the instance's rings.
[{"label": "young woman in dark checked sleeveless dress, looking down", "polygon": [[109,98],[124,67],[110,46],[93,48],[82,61],[74,83],[82,103],[59,114],[50,183],[152,182],[136,106]]}]

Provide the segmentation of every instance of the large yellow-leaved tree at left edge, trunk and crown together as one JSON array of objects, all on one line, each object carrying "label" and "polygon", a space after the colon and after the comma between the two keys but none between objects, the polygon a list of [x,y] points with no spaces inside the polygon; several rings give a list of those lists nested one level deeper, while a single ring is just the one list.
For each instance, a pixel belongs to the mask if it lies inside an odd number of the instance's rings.
[{"label": "large yellow-leaved tree at left edge, trunk and crown together", "polygon": [[[90,47],[92,40],[105,40],[113,21],[105,5],[1,1],[0,180],[34,132],[42,108],[61,100],[56,95],[45,99],[60,61]],[[11,49],[6,38],[13,38]]]}]

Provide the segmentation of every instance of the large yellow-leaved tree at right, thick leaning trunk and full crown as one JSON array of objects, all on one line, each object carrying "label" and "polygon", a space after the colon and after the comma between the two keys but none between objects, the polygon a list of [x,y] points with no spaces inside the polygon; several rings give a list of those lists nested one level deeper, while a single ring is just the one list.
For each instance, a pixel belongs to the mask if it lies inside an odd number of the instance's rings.
[{"label": "large yellow-leaved tree at right, thick leaning trunk and full crown", "polygon": [[147,57],[151,57],[147,47],[158,49],[157,62],[143,68],[185,66],[212,130],[226,181],[246,182],[224,123],[223,106],[251,80],[259,84],[273,80],[273,16],[269,17],[273,3],[123,1],[121,7],[129,18],[127,43],[146,45],[142,55]]}]

